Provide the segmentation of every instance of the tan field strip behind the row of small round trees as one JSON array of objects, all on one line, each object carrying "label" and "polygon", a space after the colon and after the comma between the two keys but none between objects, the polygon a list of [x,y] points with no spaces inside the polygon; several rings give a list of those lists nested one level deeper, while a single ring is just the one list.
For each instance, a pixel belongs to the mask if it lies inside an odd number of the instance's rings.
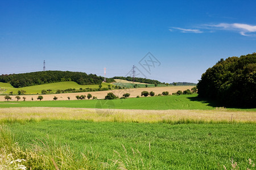
[{"label": "tan field strip behind the row of small round trees", "polygon": [[[70,100],[77,100],[77,95],[88,95],[92,94],[92,96],[96,96],[98,99],[104,99],[105,96],[109,92],[113,92],[116,96],[122,97],[123,94],[129,93],[130,97],[136,97],[141,96],[142,91],[154,91],[155,95],[162,94],[163,91],[168,91],[169,94],[172,94],[173,92],[177,92],[178,90],[184,91],[184,90],[191,90],[191,88],[194,86],[169,86],[169,87],[148,87],[148,88],[131,88],[131,89],[121,89],[121,90],[109,90],[109,91],[95,91],[95,92],[80,92],[80,93],[67,93],[67,94],[51,94],[51,95],[42,95],[45,100],[53,100],[53,97],[58,97],[57,100],[68,100],[67,97],[70,97]],[[31,98],[34,98],[34,101],[36,101],[37,97],[39,95],[20,95],[20,100],[23,100],[22,97],[26,97],[26,101],[31,101]],[[16,101],[15,95],[11,96],[12,101]],[[0,96],[0,101],[6,101],[5,96]]]}]

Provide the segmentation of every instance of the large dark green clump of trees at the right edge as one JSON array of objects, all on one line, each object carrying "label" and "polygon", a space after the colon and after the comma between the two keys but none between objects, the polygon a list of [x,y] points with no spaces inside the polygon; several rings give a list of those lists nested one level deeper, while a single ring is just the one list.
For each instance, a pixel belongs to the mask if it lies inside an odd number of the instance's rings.
[{"label": "large dark green clump of trees at the right edge", "polygon": [[256,53],[221,59],[197,84],[198,94],[224,105],[256,107]]}]

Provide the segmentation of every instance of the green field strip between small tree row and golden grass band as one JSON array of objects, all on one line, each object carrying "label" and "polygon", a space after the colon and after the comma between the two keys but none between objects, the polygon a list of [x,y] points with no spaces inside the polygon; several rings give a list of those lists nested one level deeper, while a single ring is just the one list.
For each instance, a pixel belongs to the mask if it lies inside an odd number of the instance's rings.
[{"label": "green field strip between small tree row and golden grass band", "polygon": [[[16,103],[16,104],[11,104]],[[0,108],[8,107],[67,107],[67,108],[102,108],[108,109],[145,109],[145,110],[168,110],[168,109],[216,109],[222,107],[214,101],[202,100],[197,95],[169,95],[154,97],[139,97],[116,100],[60,100],[60,101],[2,101]],[[241,109],[241,108],[228,108]],[[256,111],[256,108],[242,109]]]}]

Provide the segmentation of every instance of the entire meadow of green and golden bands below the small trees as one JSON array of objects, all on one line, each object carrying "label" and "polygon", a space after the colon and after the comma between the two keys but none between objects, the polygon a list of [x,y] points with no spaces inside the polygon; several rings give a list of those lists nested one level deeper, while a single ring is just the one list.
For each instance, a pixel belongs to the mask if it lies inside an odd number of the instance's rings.
[{"label": "entire meadow of green and golden bands below the small trees", "polygon": [[253,169],[255,111],[197,95],[3,101],[0,169]]}]

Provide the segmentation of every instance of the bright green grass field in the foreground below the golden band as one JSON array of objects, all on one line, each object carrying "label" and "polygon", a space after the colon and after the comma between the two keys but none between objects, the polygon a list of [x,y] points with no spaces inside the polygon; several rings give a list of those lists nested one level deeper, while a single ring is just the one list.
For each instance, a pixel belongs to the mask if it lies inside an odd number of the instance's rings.
[{"label": "bright green grass field in the foreground below the golden band", "polygon": [[27,167],[41,163],[41,169],[55,169],[51,160],[62,169],[231,169],[232,159],[246,169],[256,158],[256,124],[59,120],[6,125],[13,136],[2,129],[2,141],[20,146],[13,159],[27,160]]}]

